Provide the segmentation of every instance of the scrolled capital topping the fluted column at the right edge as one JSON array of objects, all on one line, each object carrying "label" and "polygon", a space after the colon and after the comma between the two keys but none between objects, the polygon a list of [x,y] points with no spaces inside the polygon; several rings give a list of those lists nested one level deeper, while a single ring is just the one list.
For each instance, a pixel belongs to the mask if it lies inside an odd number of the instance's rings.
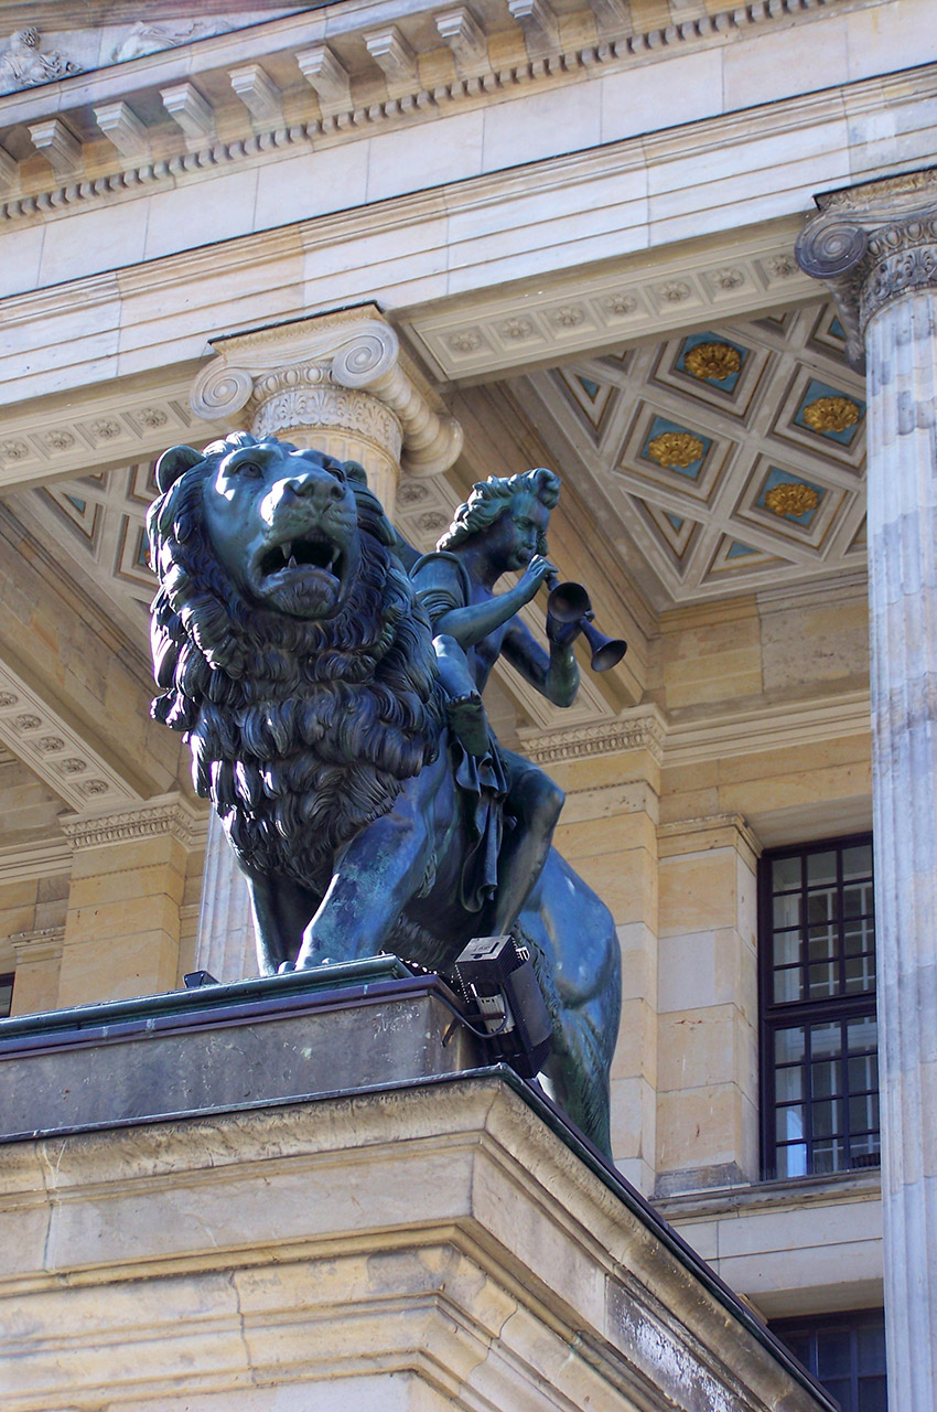
[{"label": "scrolled capital topping the fluted column at the right edge", "polygon": [[937,289],[937,168],[814,199],[797,264],[831,291],[850,361],[862,367],[869,319],[905,294]]}]

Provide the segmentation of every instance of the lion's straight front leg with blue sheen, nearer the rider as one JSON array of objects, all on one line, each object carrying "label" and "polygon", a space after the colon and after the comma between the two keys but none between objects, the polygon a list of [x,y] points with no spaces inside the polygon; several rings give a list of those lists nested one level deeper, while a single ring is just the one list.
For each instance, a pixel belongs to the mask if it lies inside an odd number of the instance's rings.
[{"label": "lion's straight front leg with blue sheen, nearer the rider", "polygon": [[[445,753],[440,751],[440,757]],[[442,770],[440,770],[442,767]],[[430,860],[433,812],[447,760],[439,758],[336,858],[322,907],[306,928],[296,967],[377,956],[416,894]]]}]

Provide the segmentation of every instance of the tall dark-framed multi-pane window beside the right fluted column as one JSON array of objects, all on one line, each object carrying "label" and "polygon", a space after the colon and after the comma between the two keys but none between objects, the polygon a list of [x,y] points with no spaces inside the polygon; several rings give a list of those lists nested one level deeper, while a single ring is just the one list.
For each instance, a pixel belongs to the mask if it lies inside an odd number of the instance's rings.
[{"label": "tall dark-framed multi-pane window beside the right fluted column", "polygon": [[878,1166],[872,839],[759,870],[763,1176]]}]

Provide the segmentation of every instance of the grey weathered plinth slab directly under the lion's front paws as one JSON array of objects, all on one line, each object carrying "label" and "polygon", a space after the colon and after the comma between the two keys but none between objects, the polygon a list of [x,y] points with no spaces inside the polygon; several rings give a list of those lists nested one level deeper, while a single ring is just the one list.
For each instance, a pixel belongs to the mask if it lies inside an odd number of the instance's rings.
[{"label": "grey weathered plinth slab directly under the lion's front paws", "polygon": [[435,977],[375,957],[1,1021],[0,1139],[471,1067],[476,1043],[452,1029],[443,995]]}]

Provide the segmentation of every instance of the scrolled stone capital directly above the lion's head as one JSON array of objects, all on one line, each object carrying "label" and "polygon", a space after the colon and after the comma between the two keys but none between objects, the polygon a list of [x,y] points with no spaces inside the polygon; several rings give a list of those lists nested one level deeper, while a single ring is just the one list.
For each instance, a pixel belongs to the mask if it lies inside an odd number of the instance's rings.
[{"label": "scrolled stone capital directly above the lion's head", "polygon": [[447,470],[461,449],[459,422],[374,305],[212,343],[192,390],[207,421],[240,421],[255,436],[347,433],[416,476]]}]

